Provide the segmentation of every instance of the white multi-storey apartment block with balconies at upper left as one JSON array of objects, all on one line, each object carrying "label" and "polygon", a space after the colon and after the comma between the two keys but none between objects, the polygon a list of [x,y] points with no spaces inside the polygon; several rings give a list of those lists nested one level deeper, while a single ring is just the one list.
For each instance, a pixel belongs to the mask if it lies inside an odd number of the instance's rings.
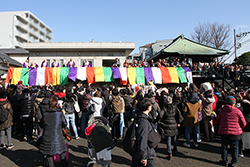
[{"label": "white multi-storey apartment block with balconies at upper left", "polygon": [[22,48],[24,42],[52,42],[53,31],[29,11],[0,12],[0,48]]}]

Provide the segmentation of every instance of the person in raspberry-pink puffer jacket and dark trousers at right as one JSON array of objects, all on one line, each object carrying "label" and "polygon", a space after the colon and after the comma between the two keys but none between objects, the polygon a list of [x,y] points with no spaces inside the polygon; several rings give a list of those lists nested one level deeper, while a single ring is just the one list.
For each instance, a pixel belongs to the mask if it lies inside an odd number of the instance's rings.
[{"label": "person in raspberry-pink puffer jacket and dark trousers at right", "polygon": [[236,99],[228,96],[219,113],[218,121],[220,122],[218,134],[221,135],[221,161],[222,165],[228,165],[227,146],[231,146],[232,160],[231,165],[236,166],[238,162],[239,139],[242,138],[242,128],[246,126],[245,118],[242,112],[235,107]]}]

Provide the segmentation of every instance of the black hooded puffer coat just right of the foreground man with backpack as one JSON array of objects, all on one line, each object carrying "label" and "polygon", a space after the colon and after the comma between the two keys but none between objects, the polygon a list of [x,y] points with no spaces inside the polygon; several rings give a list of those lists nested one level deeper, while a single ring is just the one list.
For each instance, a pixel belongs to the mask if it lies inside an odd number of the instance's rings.
[{"label": "black hooded puffer coat just right of the foreground man with backpack", "polygon": [[162,137],[177,136],[178,124],[183,121],[180,110],[175,105],[163,106],[160,112],[159,133]]}]

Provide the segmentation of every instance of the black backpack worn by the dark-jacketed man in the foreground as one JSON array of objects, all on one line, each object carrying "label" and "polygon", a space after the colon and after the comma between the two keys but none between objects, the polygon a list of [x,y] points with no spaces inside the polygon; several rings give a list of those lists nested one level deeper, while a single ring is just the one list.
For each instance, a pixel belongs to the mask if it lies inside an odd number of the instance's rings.
[{"label": "black backpack worn by the dark-jacketed man in the foreground", "polygon": [[123,141],[122,148],[125,152],[130,155],[134,153],[137,149],[136,142],[136,127],[137,127],[137,118],[127,127],[124,128],[123,132]]}]

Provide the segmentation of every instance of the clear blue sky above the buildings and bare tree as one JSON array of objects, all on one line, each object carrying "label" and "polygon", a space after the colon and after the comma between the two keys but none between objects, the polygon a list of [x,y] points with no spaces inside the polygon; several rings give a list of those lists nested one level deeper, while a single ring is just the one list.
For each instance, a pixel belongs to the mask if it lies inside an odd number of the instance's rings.
[{"label": "clear blue sky above the buildings and bare tree", "polygon": [[[138,48],[181,34],[199,22],[250,31],[249,0],[0,0],[0,11],[28,10],[54,32],[54,42],[135,42]],[[250,36],[250,35],[249,35]]]}]

